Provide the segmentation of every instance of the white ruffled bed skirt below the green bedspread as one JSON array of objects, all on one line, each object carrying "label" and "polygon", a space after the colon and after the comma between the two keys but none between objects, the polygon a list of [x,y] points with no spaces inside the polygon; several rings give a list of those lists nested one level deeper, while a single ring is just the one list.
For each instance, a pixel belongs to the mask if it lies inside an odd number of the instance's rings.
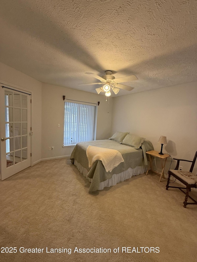
[{"label": "white ruffled bed skirt below the green bedspread", "polygon": [[[84,175],[84,177],[86,177],[86,179],[89,180],[89,182],[92,181],[91,178],[87,177],[87,174],[88,174],[87,169],[85,167],[83,167],[80,163],[78,163],[75,159],[74,159],[74,165],[77,167],[79,172],[82,173]],[[119,174],[113,174],[112,178],[107,179],[106,181],[100,182],[98,190],[103,190],[103,188],[106,187],[106,186],[107,187],[115,186],[120,181],[124,181],[128,178],[131,178],[132,176],[143,174],[146,171],[147,171],[146,165],[136,166],[135,168],[130,167],[126,171],[123,171]]]}]

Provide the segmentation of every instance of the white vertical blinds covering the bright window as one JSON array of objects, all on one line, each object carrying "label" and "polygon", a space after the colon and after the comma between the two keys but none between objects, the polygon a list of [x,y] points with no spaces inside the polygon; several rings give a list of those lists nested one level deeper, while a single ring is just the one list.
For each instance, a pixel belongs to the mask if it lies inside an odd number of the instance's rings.
[{"label": "white vertical blinds covering the bright window", "polygon": [[93,140],[94,106],[65,102],[64,146]]}]

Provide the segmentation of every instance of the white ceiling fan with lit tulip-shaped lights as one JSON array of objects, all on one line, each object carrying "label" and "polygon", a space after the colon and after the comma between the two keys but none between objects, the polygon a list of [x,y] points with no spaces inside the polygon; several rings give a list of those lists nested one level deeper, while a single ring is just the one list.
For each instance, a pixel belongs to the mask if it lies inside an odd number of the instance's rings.
[{"label": "white ceiling fan with lit tulip-shaped lights", "polygon": [[103,85],[102,87],[96,88],[96,92],[98,94],[100,94],[100,92],[105,92],[106,96],[111,96],[110,89],[112,89],[116,95],[118,94],[120,89],[131,91],[133,87],[130,87],[124,84],[120,84],[120,83],[127,82],[127,81],[134,81],[138,79],[135,75],[115,78],[115,76],[112,75],[112,71],[110,70],[105,71],[105,75],[102,77],[98,75],[94,75],[94,77],[100,80],[101,82],[100,83],[80,84],[80,85],[102,84]]}]

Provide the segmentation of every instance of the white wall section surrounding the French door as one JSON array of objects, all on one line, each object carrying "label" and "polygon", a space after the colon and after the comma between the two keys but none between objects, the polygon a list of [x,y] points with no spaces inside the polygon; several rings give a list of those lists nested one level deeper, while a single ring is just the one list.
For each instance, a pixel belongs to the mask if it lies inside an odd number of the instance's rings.
[{"label": "white wall section surrounding the French door", "polygon": [[23,74],[0,62],[0,82],[10,84],[13,87],[30,91],[32,94],[32,162],[41,159],[41,96],[42,84],[38,80]]}]

